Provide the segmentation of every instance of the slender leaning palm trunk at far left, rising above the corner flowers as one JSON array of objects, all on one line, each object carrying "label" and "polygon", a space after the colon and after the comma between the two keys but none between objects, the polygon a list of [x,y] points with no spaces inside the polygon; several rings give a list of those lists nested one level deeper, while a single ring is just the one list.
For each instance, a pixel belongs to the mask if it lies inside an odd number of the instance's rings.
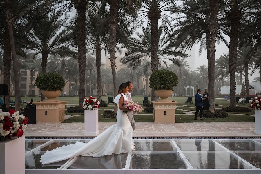
[{"label": "slender leaning palm trunk at far left, rising above the corner flowers", "polygon": [[12,61],[14,69],[14,86],[15,86],[15,110],[20,111],[21,101],[21,86],[18,77],[18,64],[16,58],[15,44],[14,44],[14,33],[13,33],[13,14],[11,13],[11,0],[5,0],[6,3],[6,20],[8,21],[8,32],[10,39],[10,48],[12,52]]}]

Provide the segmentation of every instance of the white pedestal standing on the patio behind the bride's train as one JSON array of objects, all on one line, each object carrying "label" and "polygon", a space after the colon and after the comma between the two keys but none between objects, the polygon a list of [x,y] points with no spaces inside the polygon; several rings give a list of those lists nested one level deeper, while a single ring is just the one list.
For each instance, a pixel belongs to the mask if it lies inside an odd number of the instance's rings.
[{"label": "white pedestal standing on the patio behind the bride's train", "polygon": [[99,115],[98,110],[84,111],[84,135],[96,136],[99,133]]}]

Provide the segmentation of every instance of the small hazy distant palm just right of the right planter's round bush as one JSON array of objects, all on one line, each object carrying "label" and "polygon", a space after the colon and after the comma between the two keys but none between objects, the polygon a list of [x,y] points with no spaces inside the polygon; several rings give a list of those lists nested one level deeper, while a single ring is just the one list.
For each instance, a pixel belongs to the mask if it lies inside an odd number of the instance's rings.
[{"label": "small hazy distant palm just right of the right planter's round bush", "polygon": [[180,66],[171,64],[169,66],[169,69],[178,76],[178,79],[179,79],[179,92],[178,93],[179,93],[179,96],[182,96],[182,94],[181,94],[182,93],[182,91],[181,91],[181,81],[182,80],[181,79],[183,77],[188,76],[189,73],[191,72],[191,70],[190,70],[189,64],[187,63],[188,61],[186,61],[186,59],[179,58],[178,60],[180,62]]}]

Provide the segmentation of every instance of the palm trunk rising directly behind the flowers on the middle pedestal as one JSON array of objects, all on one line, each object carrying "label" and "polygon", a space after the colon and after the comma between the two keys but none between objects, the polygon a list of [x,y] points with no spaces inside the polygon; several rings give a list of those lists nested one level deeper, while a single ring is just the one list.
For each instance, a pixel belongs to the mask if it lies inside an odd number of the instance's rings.
[{"label": "palm trunk rising directly behind the flowers on the middle pedestal", "polygon": [[97,100],[101,100],[102,95],[102,84],[101,84],[101,55],[102,49],[96,48],[96,70],[97,70]]}]

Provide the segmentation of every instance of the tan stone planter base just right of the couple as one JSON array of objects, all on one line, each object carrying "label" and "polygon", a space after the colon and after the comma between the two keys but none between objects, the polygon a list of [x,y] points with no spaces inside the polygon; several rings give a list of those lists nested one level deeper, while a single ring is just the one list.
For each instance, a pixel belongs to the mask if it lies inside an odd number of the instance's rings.
[{"label": "tan stone planter base just right of the couple", "polygon": [[154,123],[172,124],[176,122],[175,109],[178,102],[152,101]]}]

